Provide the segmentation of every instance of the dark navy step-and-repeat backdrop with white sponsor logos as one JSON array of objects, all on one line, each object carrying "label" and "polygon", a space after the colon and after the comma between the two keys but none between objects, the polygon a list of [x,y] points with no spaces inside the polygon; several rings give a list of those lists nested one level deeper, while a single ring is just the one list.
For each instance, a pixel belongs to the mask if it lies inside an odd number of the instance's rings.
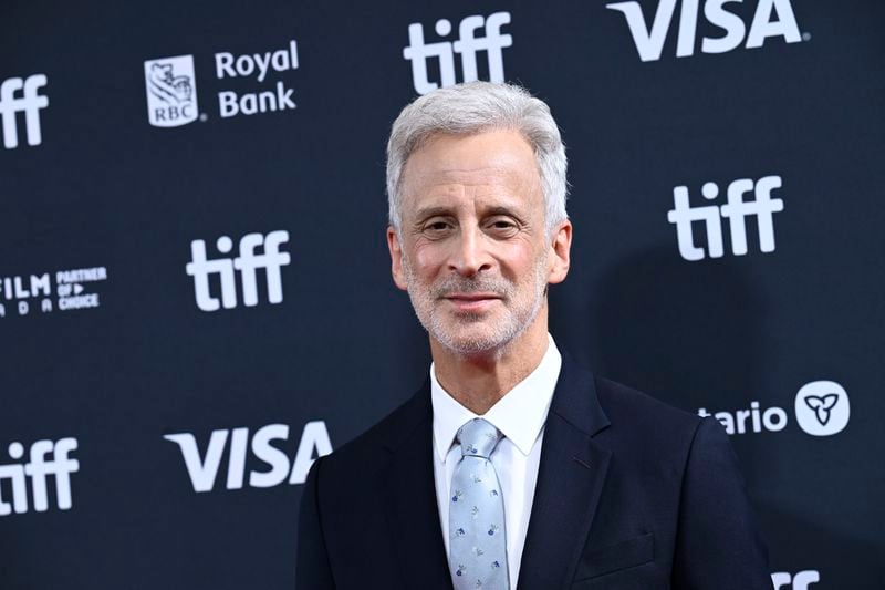
[{"label": "dark navy step-and-repeat backdrop with white sponsor logos", "polygon": [[7,2],[0,588],[293,588],[311,462],[428,369],[389,277],[389,125],[471,79],[563,131],[559,344],[723,424],[775,588],[883,588],[883,22],[874,0]]}]

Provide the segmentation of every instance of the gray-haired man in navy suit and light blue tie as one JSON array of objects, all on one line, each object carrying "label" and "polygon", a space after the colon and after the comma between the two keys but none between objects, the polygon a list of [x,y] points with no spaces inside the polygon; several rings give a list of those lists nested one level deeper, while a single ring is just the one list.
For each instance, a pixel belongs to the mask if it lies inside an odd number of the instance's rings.
[{"label": "gray-haired man in navy suit and light blue tie", "polygon": [[546,105],[441,89],[400,113],[387,158],[393,278],[433,364],[311,469],[299,588],[770,589],[719,424],[594,377],[548,334],[572,225]]}]

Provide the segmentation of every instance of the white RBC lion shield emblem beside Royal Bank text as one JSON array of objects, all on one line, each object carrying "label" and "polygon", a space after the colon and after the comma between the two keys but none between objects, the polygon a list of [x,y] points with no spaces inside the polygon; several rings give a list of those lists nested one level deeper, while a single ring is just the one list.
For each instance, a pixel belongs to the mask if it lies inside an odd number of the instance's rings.
[{"label": "white RBC lion shield emblem beside Royal Bank text", "polygon": [[146,61],[145,89],[147,118],[155,127],[178,127],[199,116],[192,55]]}]

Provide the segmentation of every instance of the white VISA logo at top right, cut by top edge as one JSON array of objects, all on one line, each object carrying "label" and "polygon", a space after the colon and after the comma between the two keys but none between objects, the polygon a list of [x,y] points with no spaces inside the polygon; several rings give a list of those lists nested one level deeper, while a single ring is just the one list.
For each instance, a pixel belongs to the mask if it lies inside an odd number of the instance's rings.
[{"label": "white VISA logo at top right, cut by top edge", "polygon": [[[726,53],[743,43],[747,37],[747,49],[761,48],[766,39],[782,37],[787,43],[802,41],[795,22],[793,7],[790,0],[759,0],[750,22],[749,34],[743,20],[736,13],[726,9],[729,2],[741,0],[706,0],[704,3],[704,18],[719,32],[715,37],[704,37],[700,41],[701,53]],[[687,58],[695,53],[695,38],[698,25],[699,0],[683,0],[679,11],[678,34],[676,38],[676,56]],[[673,13],[676,10],[676,0],[660,0],[650,24],[643,18],[639,2],[613,2],[605,8],[622,12],[627,19],[629,33],[636,44],[639,60],[653,62],[660,59],[664,51],[664,41],[670,30]],[[777,17],[775,17],[777,14]],[[810,39],[811,37],[806,37]]]}]

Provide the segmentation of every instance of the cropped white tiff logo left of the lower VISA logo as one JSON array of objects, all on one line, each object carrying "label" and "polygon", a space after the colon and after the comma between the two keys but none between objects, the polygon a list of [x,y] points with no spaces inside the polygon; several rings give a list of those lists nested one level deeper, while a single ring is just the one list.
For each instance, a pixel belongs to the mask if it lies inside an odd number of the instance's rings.
[{"label": "cropped white tiff logo left of the lower VISA logo", "polygon": [[[28,489],[25,478],[31,478],[34,510],[45,513],[49,510],[49,495],[46,494],[46,477],[55,476],[55,501],[60,510],[71,509],[71,474],[80,470],[80,462],[69,457],[69,453],[76,451],[76,438],[62,438],[58,443],[52,441],[37,441],[31,445],[29,460],[24,465],[12,463],[0,465],[0,516],[7,516],[13,510],[15,514],[28,511]],[[52,459],[46,455],[52,453]],[[9,445],[9,456],[19,460],[24,456],[24,446],[21,443]],[[12,504],[3,499],[3,480],[12,483]]]}]

